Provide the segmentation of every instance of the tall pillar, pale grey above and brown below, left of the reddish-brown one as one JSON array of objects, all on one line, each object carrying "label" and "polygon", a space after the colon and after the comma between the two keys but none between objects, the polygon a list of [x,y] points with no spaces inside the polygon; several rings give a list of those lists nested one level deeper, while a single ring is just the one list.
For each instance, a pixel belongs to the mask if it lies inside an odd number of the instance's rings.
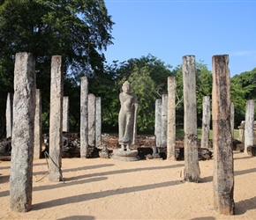
[{"label": "tall pillar, pale grey above and brown below, left of the reddish-brown one", "polygon": [[200,165],[197,146],[197,101],[195,56],[183,56],[184,92],[184,180],[200,181]]}]

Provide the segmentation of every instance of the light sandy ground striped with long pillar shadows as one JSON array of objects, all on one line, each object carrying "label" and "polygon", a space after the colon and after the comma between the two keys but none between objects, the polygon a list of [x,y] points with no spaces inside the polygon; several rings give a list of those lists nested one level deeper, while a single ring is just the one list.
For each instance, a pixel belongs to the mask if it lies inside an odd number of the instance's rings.
[{"label": "light sandy ground striped with long pillar shadows", "polygon": [[213,207],[214,160],[200,161],[201,182],[183,180],[184,161],[64,158],[64,183],[49,182],[34,160],[33,208],[10,210],[10,161],[0,161],[0,219],[256,219],[256,158],[234,152],[235,216]]}]

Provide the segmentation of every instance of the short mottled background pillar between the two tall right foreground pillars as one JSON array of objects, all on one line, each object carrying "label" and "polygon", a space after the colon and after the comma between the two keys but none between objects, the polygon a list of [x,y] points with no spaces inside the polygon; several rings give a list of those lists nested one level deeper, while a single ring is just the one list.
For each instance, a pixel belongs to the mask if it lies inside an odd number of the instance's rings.
[{"label": "short mottled background pillar between the two tall right foreground pillars", "polygon": [[202,137],[201,148],[209,147],[209,134],[210,134],[210,122],[211,122],[211,103],[210,97],[203,97],[203,118],[202,118]]}]

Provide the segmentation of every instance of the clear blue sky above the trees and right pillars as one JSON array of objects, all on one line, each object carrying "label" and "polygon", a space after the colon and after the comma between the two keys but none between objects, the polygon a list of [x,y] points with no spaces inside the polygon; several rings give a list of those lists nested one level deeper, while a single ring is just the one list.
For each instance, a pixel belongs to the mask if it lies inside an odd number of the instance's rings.
[{"label": "clear blue sky above the trees and right pillars", "polygon": [[114,45],[107,62],[148,54],[173,67],[182,56],[212,70],[213,55],[230,55],[230,76],[256,67],[256,0],[132,1],[105,0]]}]

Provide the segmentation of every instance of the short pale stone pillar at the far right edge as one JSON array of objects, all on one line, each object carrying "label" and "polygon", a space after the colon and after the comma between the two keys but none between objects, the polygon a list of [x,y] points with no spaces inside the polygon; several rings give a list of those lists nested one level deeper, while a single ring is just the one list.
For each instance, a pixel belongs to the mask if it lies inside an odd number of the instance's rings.
[{"label": "short pale stone pillar at the far right edge", "polygon": [[245,154],[247,153],[247,148],[253,145],[254,142],[254,100],[246,101],[246,111],[245,111]]}]

